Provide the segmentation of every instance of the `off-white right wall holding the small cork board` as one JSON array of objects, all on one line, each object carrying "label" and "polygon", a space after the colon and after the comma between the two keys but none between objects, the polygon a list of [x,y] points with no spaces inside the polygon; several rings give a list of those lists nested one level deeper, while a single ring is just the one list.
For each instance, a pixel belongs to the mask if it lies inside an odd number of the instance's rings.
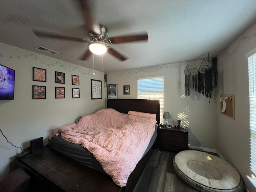
[{"label": "off-white right wall holding the small cork board", "polygon": [[250,115],[248,60],[245,54],[256,48],[255,35],[256,24],[218,56],[218,71],[221,74],[218,94],[234,94],[235,120],[220,114],[220,104],[216,104],[217,150],[238,169],[250,192],[256,189],[246,178],[250,175]]}]

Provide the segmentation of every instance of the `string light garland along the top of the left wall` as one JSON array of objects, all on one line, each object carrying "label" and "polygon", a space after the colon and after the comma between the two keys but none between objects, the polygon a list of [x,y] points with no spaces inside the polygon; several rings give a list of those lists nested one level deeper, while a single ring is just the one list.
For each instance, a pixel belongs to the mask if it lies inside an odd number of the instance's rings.
[{"label": "string light garland along the top of the left wall", "polygon": [[57,60],[56,62],[52,63],[52,64],[47,64],[45,62],[43,62],[42,60],[40,60],[35,54],[29,54],[29,55],[21,55],[21,56],[13,56],[13,55],[7,55],[7,54],[2,54],[0,53],[1,57],[9,57],[10,59],[22,59],[22,58],[29,58],[29,59],[35,59],[41,62],[41,64],[45,64],[47,66],[54,66],[54,65],[60,65],[61,67],[63,67],[66,70],[68,70],[69,72],[74,71],[74,70],[78,70],[80,73],[85,74],[85,75],[89,75],[91,72],[93,72],[94,74],[100,74],[100,75],[104,75],[104,73],[102,72],[97,72],[95,73],[93,70],[89,69],[88,72],[83,72],[78,66],[70,69],[67,68],[64,64],[62,64],[59,60]]}]

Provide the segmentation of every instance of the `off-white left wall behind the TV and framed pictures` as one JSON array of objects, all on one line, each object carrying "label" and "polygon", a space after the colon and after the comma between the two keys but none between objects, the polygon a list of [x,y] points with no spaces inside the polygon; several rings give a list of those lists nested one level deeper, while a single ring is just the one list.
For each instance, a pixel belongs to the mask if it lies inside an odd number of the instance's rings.
[{"label": "off-white left wall behind the TV and framed pictures", "polygon": [[[34,55],[26,57],[30,54]],[[41,136],[47,141],[52,130],[74,122],[78,116],[105,108],[106,88],[101,72],[93,75],[88,68],[2,43],[0,64],[16,72],[14,100],[0,100],[0,128],[12,144],[22,149],[29,146],[30,140]],[[32,81],[32,67],[46,69],[47,82]],[[55,71],[65,73],[65,84],[55,83]],[[72,86],[72,74],[80,77],[79,86]],[[91,100],[91,79],[102,81],[102,99]],[[32,99],[32,85],[46,86],[46,99]],[[66,88],[66,98],[55,99],[55,86]],[[80,98],[72,98],[72,88],[80,88]],[[0,180],[8,173],[9,163],[20,152],[20,148],[14,148],[0,134]]]}]

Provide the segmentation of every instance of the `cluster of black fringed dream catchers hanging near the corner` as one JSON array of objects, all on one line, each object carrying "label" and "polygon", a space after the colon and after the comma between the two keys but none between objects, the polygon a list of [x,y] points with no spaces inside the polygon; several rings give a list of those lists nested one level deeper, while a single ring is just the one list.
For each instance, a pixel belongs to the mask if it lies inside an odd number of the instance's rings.
[{"label": "cluster of black fringed dream catchers hanging near the corner", "polygon": [[[210,53],[210,52],[209,52]],[[209,99],[212,98],[212,91],[217,87],[217,58],[212,58],[212,61],[205,59],[202,60],[200,67],[191,68],[190,65],[187,65],[184,69],[185,74],[185,95],[190,96],[191,89],[191,76],[192,76],[192,88]]]}]

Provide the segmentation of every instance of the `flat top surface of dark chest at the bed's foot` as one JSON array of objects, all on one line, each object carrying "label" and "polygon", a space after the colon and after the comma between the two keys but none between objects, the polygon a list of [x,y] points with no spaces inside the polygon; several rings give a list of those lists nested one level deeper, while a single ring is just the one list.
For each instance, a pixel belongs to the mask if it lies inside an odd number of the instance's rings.
[{"label": "flat top surface of dark chest at the bed's foot", "polygon": [[86,189],[88,192],[119,192],[121,189],[107,174],[100,173],[49,147],[29,154],[20,161],[65,191],[82,192]]}]

